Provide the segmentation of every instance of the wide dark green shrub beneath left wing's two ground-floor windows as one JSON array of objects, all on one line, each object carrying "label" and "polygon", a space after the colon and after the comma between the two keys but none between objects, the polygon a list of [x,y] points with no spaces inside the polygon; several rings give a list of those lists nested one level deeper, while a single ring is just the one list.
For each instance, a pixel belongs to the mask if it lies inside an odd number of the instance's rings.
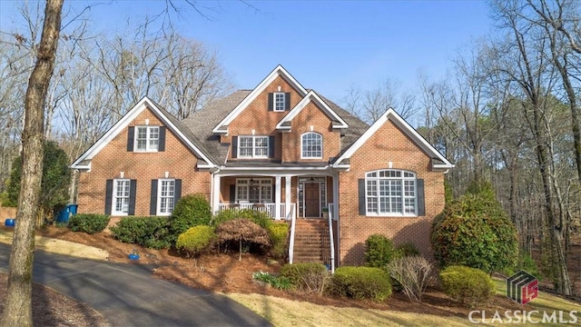
[{"label": "wide dark green shrub beneath left wing's two ground-floor windows", "polygon": [[166,217],[125,217],[110,230],[113,237],[123,243],[135,243],[153,249],[167,249],[173,243]]}]

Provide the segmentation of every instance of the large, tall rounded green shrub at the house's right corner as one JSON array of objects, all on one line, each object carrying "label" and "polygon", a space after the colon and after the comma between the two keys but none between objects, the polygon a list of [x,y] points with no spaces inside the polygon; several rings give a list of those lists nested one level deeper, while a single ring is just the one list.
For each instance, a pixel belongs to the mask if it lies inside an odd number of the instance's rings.
[{"label": "large, tall rounded green shrub at the house's right corner", "polygon": [[466,265],[488,273],[514,267],[518,258],[515,225],[489,188],[471,189],[479,193],[452,200],[434,218],[434,257],[444,267]]}]

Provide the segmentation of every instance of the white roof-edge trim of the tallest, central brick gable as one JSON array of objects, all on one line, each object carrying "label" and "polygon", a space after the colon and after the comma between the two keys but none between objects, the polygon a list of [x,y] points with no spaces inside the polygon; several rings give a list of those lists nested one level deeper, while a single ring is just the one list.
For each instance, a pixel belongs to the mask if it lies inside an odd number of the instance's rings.
[{"label": "white roof-edge trim of the tallest, central brick gable", "polygon": [[295,90],[297,90],[297,92],[299,92],[300,96],[304,97],[307,94],[307,90],[302,87],[302,85],[300,85],[299,82],[297,82],[296,79],[294,79],[294,77],[292,77],[291,74],[289,74],[289,72],[287,72],[286,69],[284,69],[284,67],[281,66],[281,64],[279,64],[278,66],[276,66],[276,68],[274,68],[274,70],[271,72],[271,74],[268,74],[268,76],[266,76],[262,82],[260,84],[258,84],[252,91],[250,94],[248,94],[246,96],[246,98],[244,98],[244,100],[241,101],[240,104],[238,104],[232,111],[230,114],[226,115],[226,117],[224,117],[224,119],[222,119],[222,121],[220,121],[218,124],[216,124],[214,126],[214,128],[212,129],[213,133],[219,133],[219,134],[227,134],[228,133],[228,124],[231,124],[231,122],[234,120],[234,118],[238,117],[239,114],[241,114],[242,110],[244,110],[248,104],[251,104],[252,101],[254,101],[254,99],[256,99],[256,97],[262,93],[262,91],[264,91],[264,89],[270,85],[277,77],[281,76],[282,78],[284,78],[287,82],[289,82],[289,84],[291,84],[292,87],[294,87]]}]

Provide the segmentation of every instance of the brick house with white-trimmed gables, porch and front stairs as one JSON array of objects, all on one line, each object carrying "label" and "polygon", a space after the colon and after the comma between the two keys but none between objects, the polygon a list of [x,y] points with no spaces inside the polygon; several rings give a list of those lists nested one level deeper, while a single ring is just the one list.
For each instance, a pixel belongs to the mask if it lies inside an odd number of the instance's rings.
[{"label": "brick house with white-trimmed gables, porch and front stairs", "polygon": [[204,193],[290,223],[290,261],[333,267],[363,263],[373,233],[430,257],[452,167],[392,109],[369,126],[281,65],[182,121],[144,97],[72,164],[79,213],[170,215]]}]

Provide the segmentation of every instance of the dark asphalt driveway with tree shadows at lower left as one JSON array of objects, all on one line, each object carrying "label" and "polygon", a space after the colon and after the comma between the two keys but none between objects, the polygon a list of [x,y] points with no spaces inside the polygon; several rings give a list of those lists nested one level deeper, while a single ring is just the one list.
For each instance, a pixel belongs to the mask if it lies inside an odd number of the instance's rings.
[{"label": "dark asphalt driveway with tree shadows at lower left", "polygon": [[[9,255],[0,243],[0,272]],[[87,303],[113,326],[271,326],[223,295],[155,279],[152,269],[34,252],[34,282]]]}]

